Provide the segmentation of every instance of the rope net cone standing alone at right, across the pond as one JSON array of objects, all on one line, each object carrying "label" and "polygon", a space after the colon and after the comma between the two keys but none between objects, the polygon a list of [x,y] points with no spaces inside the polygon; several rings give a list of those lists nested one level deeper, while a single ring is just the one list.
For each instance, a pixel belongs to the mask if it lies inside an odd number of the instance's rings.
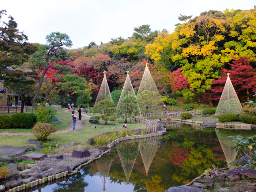
[{"label": "rope net cone standing alone at right, across the pond", "polygon": [[242,113],[242,105],[231,83],[229,74],[227,74],[227,80],[222,91],[221,99],[219,100],[215,115],[220,115],[222,113]]}]

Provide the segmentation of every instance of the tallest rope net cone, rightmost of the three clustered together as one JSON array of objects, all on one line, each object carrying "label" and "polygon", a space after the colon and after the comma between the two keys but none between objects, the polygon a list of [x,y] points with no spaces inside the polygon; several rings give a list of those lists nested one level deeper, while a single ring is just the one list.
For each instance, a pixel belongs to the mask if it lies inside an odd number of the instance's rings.
[{"label": "tallest rope net cone, rightmost of the three clustered together", "polygon": [[163,110],[164,103],[147,67],[147,63],[137,93],[137,99],[142,113],[158,113]]}]

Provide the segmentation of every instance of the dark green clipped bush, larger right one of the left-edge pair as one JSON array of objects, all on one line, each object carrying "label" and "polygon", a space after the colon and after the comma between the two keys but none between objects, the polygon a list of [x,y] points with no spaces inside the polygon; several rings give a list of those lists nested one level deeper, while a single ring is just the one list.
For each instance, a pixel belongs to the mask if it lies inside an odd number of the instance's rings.
[{"label": "dark green clipped bush, larger right one of the left-edge pair", "polygon": [[12,115],[12,127],[31,129],[35,124],[33,117],[31,113],[15,113]]}]

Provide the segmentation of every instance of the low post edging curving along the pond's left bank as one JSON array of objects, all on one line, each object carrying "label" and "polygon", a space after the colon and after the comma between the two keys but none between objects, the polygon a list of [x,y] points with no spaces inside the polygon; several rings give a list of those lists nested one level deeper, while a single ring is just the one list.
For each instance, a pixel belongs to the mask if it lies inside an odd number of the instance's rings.
[{"label": "low post edging curving along the pond's left bank", "polygon": [[114,144],[116,143],[119,143],[121,141],[124,141],[124,140],[132,140],[132,139],[140,139],[140,138],[150,138],[150,137],[153,137],[153,136],[162,136],[162,132],[159,132],[159,133],[150,133],[150,134],[147,134],[147,135],[135,135],[135,136],[126,136],[126,137],[122,137],[122,138],[118,138],[116,140],[114,140],[112,143],[108,144],[108,147],[109,149],[102,152],[98,157],[94,158],[94,159],[91,159],[90,161],[87,161],[86,163],[83,163],[81,165],[79,165],[78,167],[75,168],[75,170],[72,172],[72,173],[68,173],[67,171],[66,172],[61,172],[61,173],[57,173],[57,174],[53,174],[51,176],[47,176],[47,177],[44,177],[44,178],[41,178],[41,179],[37,179],[35,181],[31,181],[27,184],[23,184],[23,185],[20,185],[18,187],[14,187],[12,189],[9,189],[8,192],[20,192],[20,191],[23,191],[25,189],[29,189],[31,187],[34,187],[34,186],[37,186],[39,184],[42,184],[42,183],[45,183],[47,181],[52,181],[52,180],[55,180],[55,179],[59,179],[61,177],[70,177],[70,176],[73,176],[75,175],[82,167],[84,166],[87,166],[89,165],[90,163],[92,163],[93,161],[95,160],[98,160],[100,159],[103,155],[109,153],[111,151],[111,147],[114,146]]}]

